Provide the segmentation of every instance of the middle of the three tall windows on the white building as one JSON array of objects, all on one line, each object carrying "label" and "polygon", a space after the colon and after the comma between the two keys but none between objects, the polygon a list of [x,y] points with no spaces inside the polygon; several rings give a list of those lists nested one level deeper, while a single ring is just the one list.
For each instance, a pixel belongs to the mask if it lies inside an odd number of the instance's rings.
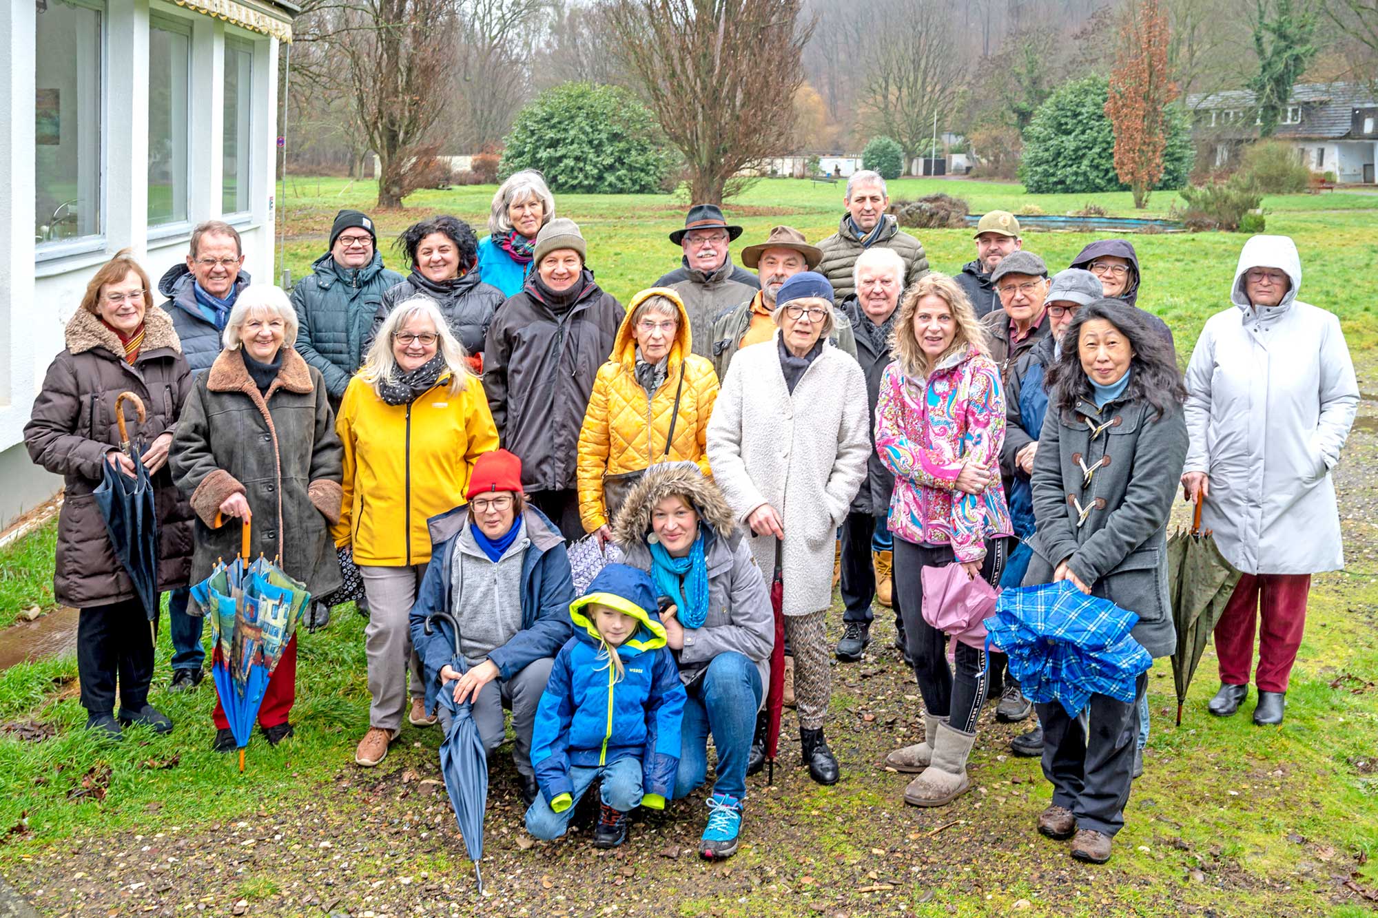
[{"label": "middle of the three tall windows on the white building", "polygon": [[192,29],[154,18],[149,28],[149,226],[187,219]]}]

